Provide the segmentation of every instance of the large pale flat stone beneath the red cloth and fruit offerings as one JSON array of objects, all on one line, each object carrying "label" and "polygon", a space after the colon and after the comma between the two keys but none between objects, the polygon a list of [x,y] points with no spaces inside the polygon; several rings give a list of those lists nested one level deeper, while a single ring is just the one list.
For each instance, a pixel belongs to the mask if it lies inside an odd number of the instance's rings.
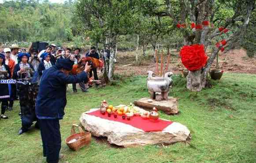
[{"label": "large pale flat stone beneath the red cloth and fruit offerings", "polygon": [[[95,111],[91,109],[88,112]],[[122,122],[110,121],[93,115],[82,113],[80,122],[85,130],[96,137],[108,137],[110,144],[124,147],[147,144],[173,144],[184,142],[189,137],[190,131],[186,126],[173,122],[161,132],[144,132],[141,129],[124,124]]]}]

